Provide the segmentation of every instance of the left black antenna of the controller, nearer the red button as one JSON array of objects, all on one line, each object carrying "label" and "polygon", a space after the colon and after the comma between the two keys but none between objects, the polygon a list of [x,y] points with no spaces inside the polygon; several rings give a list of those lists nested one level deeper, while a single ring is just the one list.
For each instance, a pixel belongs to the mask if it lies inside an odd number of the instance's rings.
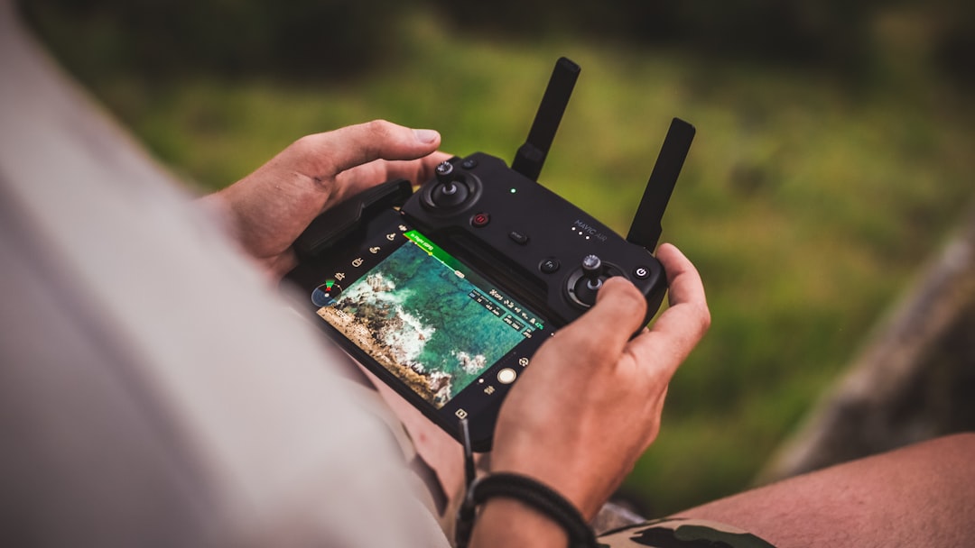
[{"label": "left black antenna of the controller, nearer the red button", "polygon": [[532,181],[537,181],[542,171],[545,157],[552,147],[565,107],[568,106],[568,97],[572,94],[581,70],[579,65],[566,57],[560,57],[555,63],[548,88],[542,95],[542,102],[538,105],[535,120],[528,131],[528,139],[519,147],[515,161],[511,164],[512,169]]}]

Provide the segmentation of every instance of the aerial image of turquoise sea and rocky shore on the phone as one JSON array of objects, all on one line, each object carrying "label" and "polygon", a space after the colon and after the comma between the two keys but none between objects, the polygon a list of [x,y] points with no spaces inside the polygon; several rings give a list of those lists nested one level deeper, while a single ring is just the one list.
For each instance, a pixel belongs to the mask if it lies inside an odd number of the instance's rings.
[{"label": "aerial image of turquoise sea and rocky shore on the phone", "polygon": [[407,242],[318,314],[440,408],[530,336],[486,295]]}]

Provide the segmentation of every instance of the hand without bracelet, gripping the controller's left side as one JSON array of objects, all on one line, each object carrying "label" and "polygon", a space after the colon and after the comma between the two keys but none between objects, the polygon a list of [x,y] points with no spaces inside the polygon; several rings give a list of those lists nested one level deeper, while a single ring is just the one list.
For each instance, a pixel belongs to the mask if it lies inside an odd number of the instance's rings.
[{"label": "hand without bracelet, gripping the controller's left side", "polygon": [[292,243],[329,207],[370,186],[421,183],[449,155],[440,134],[377,120],[308,135],[237,183],[205,198],[227,213],[236,237],[272,274],[295,264]]}]

